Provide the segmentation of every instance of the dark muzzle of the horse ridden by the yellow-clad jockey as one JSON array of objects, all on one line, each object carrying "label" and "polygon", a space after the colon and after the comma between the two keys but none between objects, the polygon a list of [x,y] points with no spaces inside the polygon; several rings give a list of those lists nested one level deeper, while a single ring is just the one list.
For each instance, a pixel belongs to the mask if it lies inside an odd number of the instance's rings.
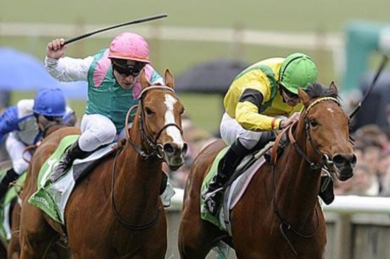
[{"label": "dark muzzle of the horse ridden by the yellow-clad jockey", "polygon": [[353,176],[353,168],[356,165],[356,155],[336,154],[332,157],[336,176],[340,181],[346,181]]}]

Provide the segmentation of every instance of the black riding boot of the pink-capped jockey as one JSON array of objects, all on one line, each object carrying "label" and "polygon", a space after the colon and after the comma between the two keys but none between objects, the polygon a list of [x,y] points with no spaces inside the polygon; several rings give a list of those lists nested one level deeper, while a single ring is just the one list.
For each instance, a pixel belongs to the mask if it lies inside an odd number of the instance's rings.
[{"label": "black riding boot of the pink-capped jockey", "polygon": [[50,182],[54,183],[63,176],[70,169],[75,159],[83,159],[92,153],[93,151],[81,150],[77,139],[76,142],[65,151],[65,154],[62,155],[59,160],[59,164],[53,169],[53,172],[50,175]]}]

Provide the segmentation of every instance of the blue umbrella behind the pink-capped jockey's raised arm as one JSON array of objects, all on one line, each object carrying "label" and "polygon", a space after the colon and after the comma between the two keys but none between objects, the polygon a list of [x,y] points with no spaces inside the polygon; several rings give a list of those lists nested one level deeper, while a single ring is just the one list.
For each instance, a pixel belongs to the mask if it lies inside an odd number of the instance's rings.
[{"label": "blue umbrella behind the pink-capped jockey's raised arm", "polygon": [[13,49],[0,48],[0,90],[35,90],[57,87],[71,99],[85,99],[87,82],[60,83],[38,58]]}]

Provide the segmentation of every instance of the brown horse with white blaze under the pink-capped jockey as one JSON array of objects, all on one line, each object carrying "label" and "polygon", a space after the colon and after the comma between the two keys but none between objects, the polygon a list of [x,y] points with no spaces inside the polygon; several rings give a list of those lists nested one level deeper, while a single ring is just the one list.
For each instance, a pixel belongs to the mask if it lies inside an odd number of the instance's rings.
[{"label": "brown horse with white blaze under the pink-capped jockey", "polygon": [[[127,139],[73,190],[65,209],[66,234],[73,258],[162,259],[167,247],[165,212],[159,198],[162,161],[171,169],[183,164],[187,150],[181,132],[184,107],[165,72],[166,86],[150,86],[142,71],[140,104]],[[129,113],[128,113],[129,114]],[[62,226],[28,197],[37,189],[43,162],[67,135],[65,128],[46,138],[34,154],[23,192],[20,219],[21,259],[42,258]]]}]

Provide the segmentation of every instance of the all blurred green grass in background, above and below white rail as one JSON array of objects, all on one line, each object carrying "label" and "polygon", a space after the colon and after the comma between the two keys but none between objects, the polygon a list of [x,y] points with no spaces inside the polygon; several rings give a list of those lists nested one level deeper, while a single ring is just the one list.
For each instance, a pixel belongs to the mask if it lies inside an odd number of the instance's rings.
[{"label": "all blurred green grass in background, above and below white rail", "polygon": [[[269,31],[321,31],[342,32],[351,19],[389,21],[386,8],[388,0],[3,0],[0,8],[1,22],[46,22],[71,24],[116,24],[137,17],[168,13],[169,17],[159,21],[161,25],[244,28]],[[131,30],[131,27],[129,28]],[[0,46],[8,46],[36,55],[43,60],[45,47],[53,37],[0,37]],[[75,30],[75,35],[78,35]],[[109,45],[110,39],[89,38],[69,46],[67,55],[83,57],[93,55]],[[169,67],[179,76],[192,66],[213,58],[238,58],[248,63],[271,56],[285,56],[303,51],[317,62],[323,83],[335,80],[335,71],[330,52],[307,51],[288,48],[244,45],[240,52],[233,44],[191,41],[157,41],[149,39],[151,58],[161,73]],[[370,64],[376,64],[373,57]],[[12,102],[32,98],[33,92],[14,93]],[[222,113],[222,99],[210,95],[180,95],[189,114],[198,125],[211,132],[218,128]],[[82,116],[85,102],[71,101],[78,117]]]}]

